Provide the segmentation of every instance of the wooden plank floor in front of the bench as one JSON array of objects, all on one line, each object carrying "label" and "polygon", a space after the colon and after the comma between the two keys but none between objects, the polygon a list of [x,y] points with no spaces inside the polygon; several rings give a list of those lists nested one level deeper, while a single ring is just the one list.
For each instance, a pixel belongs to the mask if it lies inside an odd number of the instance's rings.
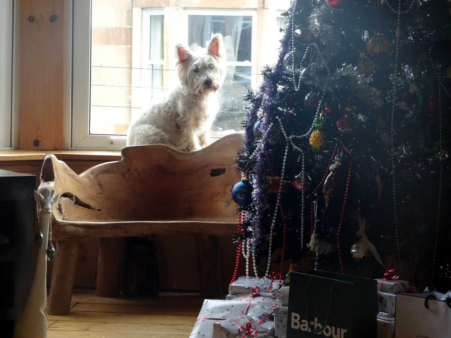
[{"label": "wooden plank floor in front of the bench", "polygon": [[105,298],[94,291],[72,295],[70,313],[47,315],[48,338],[188,337],[202,306],[195,293],[160,292],[156,298]]}]

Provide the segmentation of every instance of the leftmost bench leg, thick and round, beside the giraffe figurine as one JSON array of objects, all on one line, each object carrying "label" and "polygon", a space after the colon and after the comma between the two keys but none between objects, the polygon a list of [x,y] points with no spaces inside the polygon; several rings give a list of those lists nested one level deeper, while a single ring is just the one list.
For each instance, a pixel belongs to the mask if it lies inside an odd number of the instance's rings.
[{"label": "leftmost bench leg, thick and round, beside the giraffe figurine", "polygon": [[49,315],[67,315],[69,313],[78,246],[77,241],[64,241],[56,244],[55,263],[47,307]]}]

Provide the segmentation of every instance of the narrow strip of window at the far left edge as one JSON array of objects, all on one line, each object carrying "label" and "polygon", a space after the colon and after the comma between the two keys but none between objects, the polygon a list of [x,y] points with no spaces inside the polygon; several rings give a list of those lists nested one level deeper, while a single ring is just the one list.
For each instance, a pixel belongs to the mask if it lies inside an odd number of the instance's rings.
[{"label": "narrow strip of window at the far left edge", "polygon": [[11,146],[13,1],[0,1],[0,148]]}]

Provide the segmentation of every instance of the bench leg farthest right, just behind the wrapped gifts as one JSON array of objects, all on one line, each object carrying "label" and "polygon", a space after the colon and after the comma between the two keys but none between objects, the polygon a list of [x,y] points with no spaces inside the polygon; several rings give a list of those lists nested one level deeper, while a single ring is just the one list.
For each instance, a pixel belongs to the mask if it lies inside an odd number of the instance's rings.
[{"label": "bench leg farthest right, just behind the wrapped gifts", "polygon": [[222,279],[218,238],[216,236],[197,235],[196,245],[200,293],[202,297],[219,298],[222,296]]}]

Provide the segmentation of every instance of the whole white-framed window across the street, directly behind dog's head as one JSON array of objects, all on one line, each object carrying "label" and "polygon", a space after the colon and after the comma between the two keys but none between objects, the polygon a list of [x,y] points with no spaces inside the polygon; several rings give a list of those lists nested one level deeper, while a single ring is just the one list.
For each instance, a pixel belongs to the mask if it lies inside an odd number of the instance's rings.
[{"label": "whole white-framed window across the street, directly behind dog's head", "polygon": [[247,87],[256,87],[256,11],[187,9],[188,46],[205,47],[212,34],[221,33],[226,48],[227,77],[219,90],[219,112],[212,136],[240,130]]}]

